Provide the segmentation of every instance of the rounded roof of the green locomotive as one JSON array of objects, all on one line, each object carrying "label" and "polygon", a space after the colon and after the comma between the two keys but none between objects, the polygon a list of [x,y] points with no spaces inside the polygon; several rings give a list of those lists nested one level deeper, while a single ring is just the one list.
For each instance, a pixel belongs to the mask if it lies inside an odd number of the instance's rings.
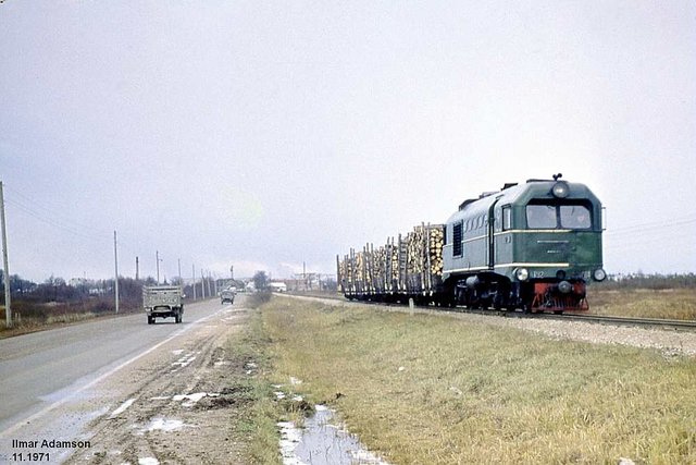
[{"label": "rounded roof of the green locomotive", "polygon": [[452,222],[459,218],[471,215],[487,213],[494,201],[498,205],[524,204],[532,198],[554,198],[551,187],[557,182],[563,182],[570,187],[569,199],[589,199],[593,204],[599,204],[598,198],[589,191],[585,184],[569,183],[567,181],[554,180],[527,180],[524,184],[506,184],[502,189],[493,193],[483,193],[478,198],[464,200],[459,210],[455,212],[447,222]]}]

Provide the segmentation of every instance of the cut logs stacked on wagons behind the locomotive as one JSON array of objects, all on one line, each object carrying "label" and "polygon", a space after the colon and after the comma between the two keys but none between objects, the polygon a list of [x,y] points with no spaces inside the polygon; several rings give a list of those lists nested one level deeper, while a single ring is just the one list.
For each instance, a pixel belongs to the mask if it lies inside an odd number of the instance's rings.
[{"label": "cut logs stacked on wagons behind the locomotive", "polygon": [[398,241],[387,240],[377,248],[368,244],[362,252],[351,250],[338,259],[338,283],[344,292],[431,290],[434,278],[443,274],[444,245],[442,224],[421,224]]}]

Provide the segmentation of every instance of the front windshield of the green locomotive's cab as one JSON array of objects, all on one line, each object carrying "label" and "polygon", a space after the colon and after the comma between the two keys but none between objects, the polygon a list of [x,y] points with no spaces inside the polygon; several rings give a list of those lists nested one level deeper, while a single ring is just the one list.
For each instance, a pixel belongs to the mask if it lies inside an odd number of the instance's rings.
[{"label": "front windshield of the green locomotive's cab", "polygon": [[582,204],[530,203],[526,225],[533,230],[586,230],[592,228],[592,215]]}]

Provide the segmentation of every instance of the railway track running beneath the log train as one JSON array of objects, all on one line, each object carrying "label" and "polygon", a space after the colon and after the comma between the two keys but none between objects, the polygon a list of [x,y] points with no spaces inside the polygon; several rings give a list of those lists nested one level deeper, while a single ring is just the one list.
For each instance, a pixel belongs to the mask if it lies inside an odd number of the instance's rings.
[{"label": "railway track running beneath the log train", "polygon": [[[383,305],[383,306],[397,307],[397,308],[399,307],[408,308],[408,305],[387,304],[382,302],[347,301],[340,296],[304,295],[304,297],[327,298],[332,301],[343,301],[346,303],[352,302],[356,304],[364,304],[364,305]],[[560,320],[560,321],[584,321],[584,322],[597,323],[597,325],[614,325],[614,326],[627,326],[627,327],[641,327],[641,328],[661,328],[661,329],[671,329],[671,330],[678,330],[678,331],[696,331],[696,320],[670,320],[670,319],[662,319],[662,318],[634,318],[634,317],[614,317],[614,316],[608,316],[608,315],[582,315],[582,314],[564,314],[564,315],[525,314],[523,311],[472,309],[472,308],[465,308],[465,307],[444,308],[444,307],[433,307],[433,306],[415,306],[415,308],[431,309],[431,310],[436,309],[438,311],[447,311],[447,313],[456,313],[456,314],[500,316],[506,318],[538,318],[538,319]]]}]

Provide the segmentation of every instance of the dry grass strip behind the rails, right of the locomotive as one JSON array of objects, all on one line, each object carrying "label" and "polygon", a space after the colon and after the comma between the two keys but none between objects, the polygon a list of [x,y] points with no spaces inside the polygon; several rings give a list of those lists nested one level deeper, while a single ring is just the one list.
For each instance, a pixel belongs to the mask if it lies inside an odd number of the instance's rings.
[{"label": "dry grass strip behind the rails, right of the locomotive", "polygon": [[696,289],[589,289],[591,313],[622,317],[696,320]]}]

